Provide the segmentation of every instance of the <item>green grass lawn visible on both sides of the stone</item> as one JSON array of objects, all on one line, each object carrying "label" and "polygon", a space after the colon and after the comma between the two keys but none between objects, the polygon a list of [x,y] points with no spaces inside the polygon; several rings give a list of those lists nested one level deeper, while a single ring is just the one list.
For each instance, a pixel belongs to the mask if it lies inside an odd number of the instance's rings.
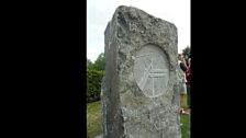
[{"label": "green grass lawn visible on both sides of the stone", "polygon": [[[87,104],[87,138],[102,134],[101,101]],[[181,115],[182,138],[190,138],[190,116]]]}]

